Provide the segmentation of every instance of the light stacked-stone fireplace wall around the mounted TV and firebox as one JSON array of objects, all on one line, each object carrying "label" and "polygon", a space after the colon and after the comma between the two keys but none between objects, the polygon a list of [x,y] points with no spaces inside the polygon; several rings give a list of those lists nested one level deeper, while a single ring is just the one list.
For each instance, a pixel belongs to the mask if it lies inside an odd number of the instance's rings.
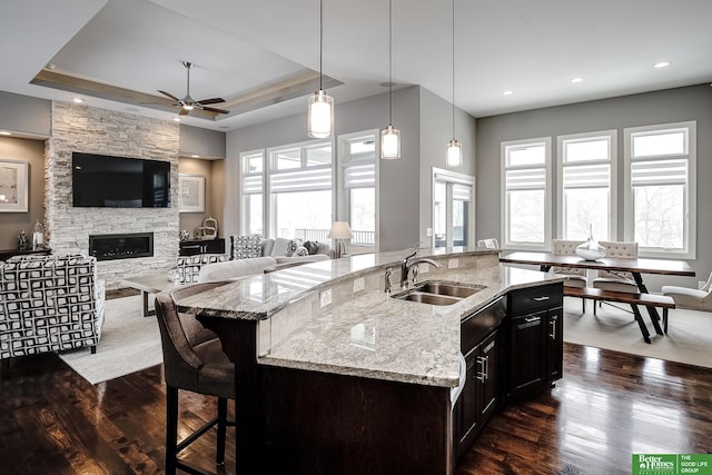
[{"label": "light stacked-stone fireplace wall around the mounted TV and firebox", "polygon": [[[71,154],[93,152],[170,161],[170,208],[73,208]],[[52,136],[44,160],[44,216],[55,254],[89,254],[89,235],[154,232],[154,257],[102,260],[107,288],[122,278],[156,274],[178,257],[179,127],[169,122],[87,106],[53,102]],[[46,238],[47,240],[47,238]]]}]

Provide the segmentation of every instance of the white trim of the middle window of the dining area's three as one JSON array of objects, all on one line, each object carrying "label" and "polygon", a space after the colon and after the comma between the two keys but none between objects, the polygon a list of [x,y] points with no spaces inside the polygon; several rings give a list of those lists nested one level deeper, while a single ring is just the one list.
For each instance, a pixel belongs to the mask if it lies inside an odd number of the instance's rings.
[{"label": "white trim of the middle window of the dining area's three", "polygon": [[[610,236],[600,236],[601,240],[615,240],[617,236],[617,130],[601,130],[596,132],[570,133],[556,137],[556,236],[564,236],[564,142],[570,140],[585,140],[595,138],[609,139],[609,157],[611,159],[611,201],[609,202],[609,230]],[[586,165],[586,161],[576,162],[576,165]]]}]

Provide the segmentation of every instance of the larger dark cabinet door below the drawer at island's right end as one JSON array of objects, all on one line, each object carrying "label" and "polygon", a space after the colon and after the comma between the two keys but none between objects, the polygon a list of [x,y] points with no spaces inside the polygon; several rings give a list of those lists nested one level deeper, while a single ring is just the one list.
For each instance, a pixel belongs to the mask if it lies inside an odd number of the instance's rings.
[{"label": "larger dark cabinet door below the drawer at island's right end", "polygon": [[513,317],[511,325],[510,395],[514,397],[540,388],[545,382],[546,310]]}]

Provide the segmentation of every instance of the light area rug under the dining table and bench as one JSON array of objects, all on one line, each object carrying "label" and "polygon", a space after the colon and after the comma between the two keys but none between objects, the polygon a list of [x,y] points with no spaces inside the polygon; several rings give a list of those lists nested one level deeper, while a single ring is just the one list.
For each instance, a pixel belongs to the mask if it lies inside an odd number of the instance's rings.
[{"label": "light area rug under the dining table and bench", "polygon": [[642,308],[651,333],[649,345],[633,315],[622,308],[604,304],[594,316],[593,301],[587,300],[586,313],[582,314],[581,299],[566,297],[564,342],[712,368],[712,313],[671,309],[668,335],[656,335]]}]

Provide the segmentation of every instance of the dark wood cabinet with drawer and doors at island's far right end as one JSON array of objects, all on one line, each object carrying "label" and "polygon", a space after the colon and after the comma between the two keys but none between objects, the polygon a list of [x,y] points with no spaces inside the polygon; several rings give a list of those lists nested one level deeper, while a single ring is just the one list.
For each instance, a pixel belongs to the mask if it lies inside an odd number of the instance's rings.
[{"label": "dark wood cabinet with drawer and doors at island's far right end", "polygon": [[507,397],[551,386],[563,368],[563,286],[552,284],[508,294]]}]

